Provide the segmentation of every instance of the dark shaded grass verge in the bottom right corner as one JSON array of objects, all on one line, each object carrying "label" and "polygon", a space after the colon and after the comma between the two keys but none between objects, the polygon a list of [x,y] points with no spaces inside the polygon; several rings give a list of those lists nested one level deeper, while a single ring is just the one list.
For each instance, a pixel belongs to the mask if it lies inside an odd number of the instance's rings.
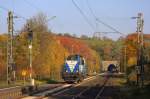
[{"label": "dark shaded grass verge in the bottom right corner", "polygon": [[115,79],[114,83],[120,86],[120,92],[117,94],[119,98],[113,99],[150,99],[150,83],[143,88],[131,85],[123,78]]}]

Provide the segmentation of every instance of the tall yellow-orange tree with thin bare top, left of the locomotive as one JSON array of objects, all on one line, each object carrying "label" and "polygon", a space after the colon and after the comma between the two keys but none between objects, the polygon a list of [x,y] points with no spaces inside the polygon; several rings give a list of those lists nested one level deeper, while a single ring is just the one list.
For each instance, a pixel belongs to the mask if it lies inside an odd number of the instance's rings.
[{"label": "tall yellow-orange tree with thin bare top, left of the locomotive", "polygon": [[46,17],[41,13],[29,19],[22,29],[24,32],[18,36],[16,63],[20,68],[19,71],[24,68],[29,69],[28,24],[33,31],[32,63],[34,78],[61,79],[62,65],[67,51],[57,41],[55,35],[48,31]]}]

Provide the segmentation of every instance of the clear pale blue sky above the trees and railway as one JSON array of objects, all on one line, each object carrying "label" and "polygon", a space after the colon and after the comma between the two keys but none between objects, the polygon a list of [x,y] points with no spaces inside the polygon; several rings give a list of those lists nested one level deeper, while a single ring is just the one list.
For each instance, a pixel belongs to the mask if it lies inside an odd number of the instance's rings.
[{"label": "clear pale blue sky above the trees and railway", "polygon": [[[136,19],[131,17],[141,12],[144,15],[144,33],[150,33],[150,0],[74,0],[74,2],[86,18],[72,0],[0,0],[0,33],[7,33],[6,9],[26,19],[39,12],[43,12],[48,18],[56,16],[48,22],[52,32],[77,36],[93,36],[94,32],[114,32],[98,23],[92,13],[96,18],[125,35],[133,33],[136,31]],[[14,19],[15,31],[20,30],[25,22],[23,18]],[[103,33],[102,36],[117,38],[121,35]]]}]

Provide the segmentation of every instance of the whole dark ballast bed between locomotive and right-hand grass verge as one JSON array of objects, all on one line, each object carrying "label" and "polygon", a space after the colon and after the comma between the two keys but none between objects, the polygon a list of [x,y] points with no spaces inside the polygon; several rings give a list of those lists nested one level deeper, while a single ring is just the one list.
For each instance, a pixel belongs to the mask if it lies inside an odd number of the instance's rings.
[{"label": "whole dark ballast bed between locomotive and right-hand grass verge", "polygon": [[114,88],[112,80],[114,81],[115,78],[111,76],[95,76],[79,84],[44,91],[38,95],[33,95],[33,98],[23,99],[120,99],[112,98],[114,92],[118,90]]}]

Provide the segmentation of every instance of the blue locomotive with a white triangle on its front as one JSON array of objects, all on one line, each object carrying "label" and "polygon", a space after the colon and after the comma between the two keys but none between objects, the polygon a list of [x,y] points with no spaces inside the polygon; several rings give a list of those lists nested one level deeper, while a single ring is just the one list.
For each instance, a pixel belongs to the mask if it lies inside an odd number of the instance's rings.
[{"label": "blue locomotive with a white triangle on its front", "polygon": [[67,57],[62,78],[66,82],[80,82],[87,75],[85,59],[81,55],[70,55]]}]

